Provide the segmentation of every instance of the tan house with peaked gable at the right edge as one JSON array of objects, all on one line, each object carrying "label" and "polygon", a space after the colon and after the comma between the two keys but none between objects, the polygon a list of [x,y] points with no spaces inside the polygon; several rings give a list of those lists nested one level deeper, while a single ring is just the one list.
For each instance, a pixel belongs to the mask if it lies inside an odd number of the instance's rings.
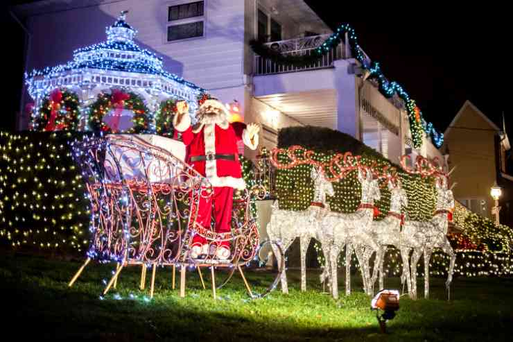
[{"label": "tan house with peaked gable at the right edge", "polygon": [[470,101],[465,101],[444,132],[444,138],[449,169],[455,166],[451,180],[458,182],[453,189],[455,199],[473,212],[494,219],[490,189],[497,182],[503,187],[501,218],[509,217],[508,188],[513,185],[513,177],[507,174],[510,142],[505,130]]}]

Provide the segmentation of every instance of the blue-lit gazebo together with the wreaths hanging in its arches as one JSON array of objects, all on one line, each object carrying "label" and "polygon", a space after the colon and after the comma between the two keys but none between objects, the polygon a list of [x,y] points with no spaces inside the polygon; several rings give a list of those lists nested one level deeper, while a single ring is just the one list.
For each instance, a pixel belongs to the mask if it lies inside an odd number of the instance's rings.
[{"label": "blue-lit gazebo together with the wreaths hanging in its arches", "polygon": [[[73,60],[65,65],[33,70],[25,75],[28,93],[35,102],[34,130],[53,130],[47,123],[51,121],[50,113],[57,112],[58,119],[61,118],[54,127],[57,129],[75,129],[77,126],[87,130],[87,119],[92,119],[92,129],[115,131],[115,127],[107,129],[102,124],[101,119],[107,114],[105,106],[95,107],[93,104],[98,95],[104,96],[116,89],[124,89],[123,92],[130,94],[130,98],[125,99],[130,108],[125,109],[134,111],[134,132],[155,132],[153,120],[162,101],[185,100],[191,112],[195,112],[198,108],[196,99],[205,89],[165,71],[162,58],[134,42],[137,31],[125,21],[125,16],[126,11],[121,12],[116,22],[106,28],[105,42],[77,49],[73,52]],[[55,89],[76,94],[73,100],[78,100],[78,110],[68,104],[57,109],[60,101],[51,101]],[[64,102],[67,97],[64,96]],[[55,103],[53,107],[52,103]],[[107,106],[121,108],[120,103],[112,101]],[[89,108],[90,105],[93,108]],[[119,116],[121,111],[116,114]]]}]

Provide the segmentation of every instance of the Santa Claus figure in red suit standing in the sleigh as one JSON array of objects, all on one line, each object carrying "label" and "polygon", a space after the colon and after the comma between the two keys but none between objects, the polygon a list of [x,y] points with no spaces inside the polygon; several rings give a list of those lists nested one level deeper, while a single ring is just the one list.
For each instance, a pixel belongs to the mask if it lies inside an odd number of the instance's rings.
[{"label": "Santa Claus figure in red suit standing in the sleigh", "polygon": [[[238,161],[237,142],[242,140],[252,150],[259,144],[259,126],[252,123],[229,123],[229,113],[223,103],[208,99],[198,109],[198,123],[191,127],[189,105],[185,101],[177,103],[177,114],[173,118],[175,139],[180,139],[189,147],[186,161],[205,176],[214,189],[209,198],[201,198],[197,222],[209,228],[214,218],[218,233],[230,231],[234,189],[245,189],[241,164]],[[218,259],[230,256],[229,241],[211,244]],[[190,256],[195,259],[208,255],[209,243],[205,237],[195,234]]]}]

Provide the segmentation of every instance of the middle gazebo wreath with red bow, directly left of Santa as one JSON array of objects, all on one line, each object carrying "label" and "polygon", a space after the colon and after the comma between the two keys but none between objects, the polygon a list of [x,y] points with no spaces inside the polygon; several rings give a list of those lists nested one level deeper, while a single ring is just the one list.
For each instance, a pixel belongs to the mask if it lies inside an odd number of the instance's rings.
[{"label": "middle gazebo wreath with red bow, directly left of Santa", "polygon": [[[151,121],[150,111],[144,104],[141,96],[133,92],[124,92],[122,89],[112,89],[111,94],[100,93],[98,99],[89,106],[89,127],[94,132],[114,133],[121,132],[118,129],[119,119],[123,109],[132,110],[134,126],[123,133],[147,132]],[[111,110],[114,110],[114,119],[109,126],[103,118]]]}]

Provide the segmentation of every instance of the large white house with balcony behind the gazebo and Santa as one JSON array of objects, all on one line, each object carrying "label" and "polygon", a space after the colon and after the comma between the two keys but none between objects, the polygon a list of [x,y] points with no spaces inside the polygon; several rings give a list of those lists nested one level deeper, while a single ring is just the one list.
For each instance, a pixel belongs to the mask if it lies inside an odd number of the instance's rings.
[{"label": "large white house with balcony behind the gazebo and Santa", "polygon": [[[122,10],[139,31],[137,44],[162,56],[167,71],[225,103],[236,99],[244,121],[261,124],[261,146],[274,147],[279,128],[308,124],[346,132],[392,162],[404,153],[444,160],[426,136],[421,148],[412,148],[404,104],[360,77],[347,37],[309,68],[254,55],[247,44],[254,38],[282,53],[308,53],[332,33],[302,0],[34,1],[12,9],[30,33],[26,71],[66,62],[73,50],[102,42],[105,26]],[[21,116],[19,128],[26,127]]]}]

